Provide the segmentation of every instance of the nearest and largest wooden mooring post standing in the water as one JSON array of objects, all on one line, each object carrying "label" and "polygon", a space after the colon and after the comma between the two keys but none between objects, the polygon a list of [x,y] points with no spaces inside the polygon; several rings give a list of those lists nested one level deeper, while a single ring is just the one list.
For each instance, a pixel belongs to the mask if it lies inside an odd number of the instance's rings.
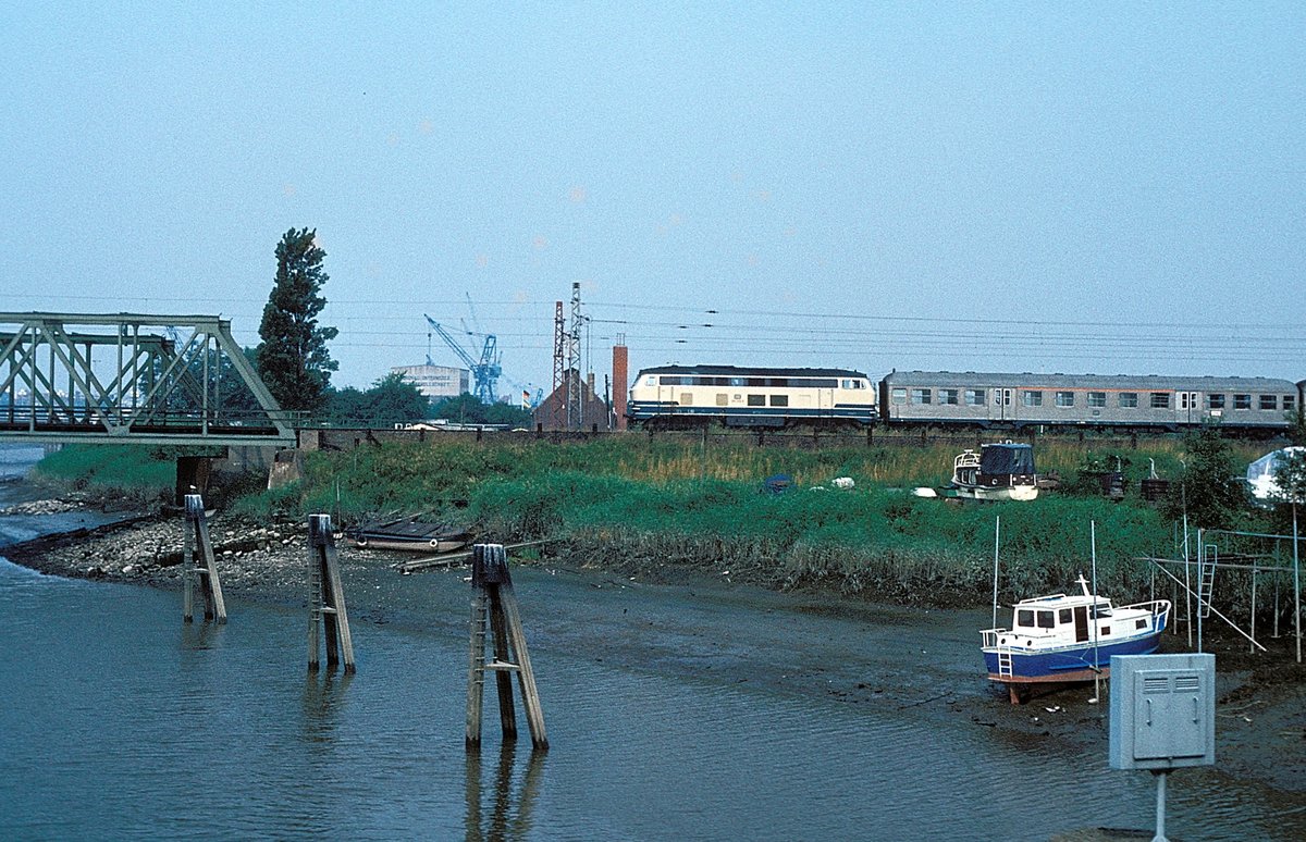
[{"label": "nearest and largest wooden mooring post standing in the water", "polygon": [[[475,544],[471,551],[471,651],[468,670],[468,749],[481,748],[481,708],[486,672],[494,672],[499,691],[499,722],[503,739],[517,739],[517,718],[512,704],[512,672],[517,674],[521,704],[526,709],[530,740],[537,749],[549,748],[545,711],[535,689],[535,675],[526,653],[526,633],[521,628],[517,597],[508,573],[508,554],[503,544]],[[494,657],[486,661],[486,637],[494,636]]]}]

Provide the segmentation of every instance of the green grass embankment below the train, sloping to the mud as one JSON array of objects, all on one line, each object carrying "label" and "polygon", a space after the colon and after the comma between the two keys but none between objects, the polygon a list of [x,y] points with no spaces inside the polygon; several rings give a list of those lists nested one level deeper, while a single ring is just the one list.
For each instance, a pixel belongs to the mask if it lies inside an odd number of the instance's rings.
[{"label": "green grass embankment below the train, sloping to the mud", "polygon": [[[1087,573],[1093,522],[1105,593],[1141,593],[1148,573],[1134,559],[1171,551],[1171,523],[1136,499],[1047,493],[1033,504],[957,505],[910,495],[914,486],[944,483],[956,452],[944,444],[795,450],[637,436],[385,445],[312,454],[300,487],[249,504],[345,520],[435,510],[498,540],[549,538],[633,572],[671,564],[772,586],[952,602],[987,599],[998,516],[1008,597],[1064,589]],[[1171,441],[1124,454],[1134,493],[1148,458],[1174,475],[1181,454]],[[1104,458],[1076,441],[1040,443],[1038,456],[1045,470],[1079,486],[1096,480],[1076,483],[1077,466]],[[1114,456],[1107,461],[1114,467]],[[791,475],[794,488],[760,493],[776,473]],[[852,476],[855,488],[831,488],[836,476]]]}]

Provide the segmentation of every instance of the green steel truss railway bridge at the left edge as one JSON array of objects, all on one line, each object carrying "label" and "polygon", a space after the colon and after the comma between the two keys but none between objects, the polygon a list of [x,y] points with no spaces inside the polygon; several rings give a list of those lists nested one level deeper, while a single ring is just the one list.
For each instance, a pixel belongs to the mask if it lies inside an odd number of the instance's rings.
[{"label": "green steel truss railway bridge at the left edge", "polygon": [[293,445],[218,316],[0,313],[0,441]]}]

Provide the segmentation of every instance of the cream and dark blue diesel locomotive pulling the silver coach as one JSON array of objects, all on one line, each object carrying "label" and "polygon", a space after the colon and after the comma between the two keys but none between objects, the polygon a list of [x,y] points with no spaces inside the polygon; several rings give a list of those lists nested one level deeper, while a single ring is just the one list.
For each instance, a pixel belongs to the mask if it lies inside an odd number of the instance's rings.
[{"label": "cream and dark blue diesel locomotive pulling the silver coach", "polygon": [[654,427],[875,423],[875,388],[845,368],[660,366],[640,371],[627,418]]}]

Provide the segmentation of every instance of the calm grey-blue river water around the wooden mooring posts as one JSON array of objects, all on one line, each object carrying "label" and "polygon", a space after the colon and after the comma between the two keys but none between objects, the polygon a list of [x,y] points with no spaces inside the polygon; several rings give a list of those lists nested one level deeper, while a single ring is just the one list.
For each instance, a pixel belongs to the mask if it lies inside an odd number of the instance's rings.
[{"label": "calm grey-blue river water around the wooden mooring posts", "polygon": [[[0,448],[0,478],[34,458]],[[0,505],[31,493],[0,482]],[[67,526],[0,516],[0,543],[51,525]],[[312,678],[302,604],[229,598],[227,625],[185,625],[175,593],[0,560],[0,838],[1046,839],[1151,828],[1151,777],[1110,770],[1105,745],[1067,755],[814,685],[827,672],[808,655],[846,641],[865,641],[865,663],[831,664],[832,685],[896,675],[901,655],[888,649],[904,636],[956,650],[944,675],[978,676],[969,620],[956,641],[912,637],[893,615],[868,624],[780,598],[515,577],[552,748],[534,755],[521,717],[516,749],[502,744],[491,683],[485,747],[469,757],[461,574],[404,577],[445,593],[431,603],[438,619],[372,598],[351,617],[359,672]],[[750,650],[759,641],[765,651]],[[959,680],[990,694],[982,679]],[[1303,822],[1276,794],[1208,770],[1170,782],[1175,838],[1303,838]]]}]

